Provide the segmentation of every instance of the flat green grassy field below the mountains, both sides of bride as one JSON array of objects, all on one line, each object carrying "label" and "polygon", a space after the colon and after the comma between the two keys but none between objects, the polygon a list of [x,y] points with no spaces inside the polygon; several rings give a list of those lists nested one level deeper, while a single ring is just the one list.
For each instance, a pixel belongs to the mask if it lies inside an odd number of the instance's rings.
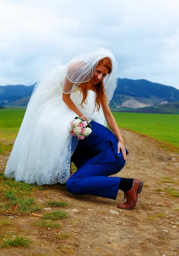
[{"label": "flat green grassy field below the mountains, both sides of bride", "polygon": [[[25,111],[26,109],[0,110],[0,153],[12,148],[12,140],[17,137]],[[113,115],[119,127],[179,147],[178,115],[122,112],[113,112]]]}]

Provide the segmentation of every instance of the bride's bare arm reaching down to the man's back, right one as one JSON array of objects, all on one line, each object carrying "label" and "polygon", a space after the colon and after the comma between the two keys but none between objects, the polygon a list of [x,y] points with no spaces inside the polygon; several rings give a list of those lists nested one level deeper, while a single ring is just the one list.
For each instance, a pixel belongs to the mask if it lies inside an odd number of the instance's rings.
[{"label": "bride's bare arm reaching down to the man's back, right one", "polygon": [[106,118],[107,124],[109,125],[109,127],[111,128],[111,130],[113,131],[115,136],[118,138],[118,153],[120,152],[120,149],[121,149],[122,155],[123,155],[124,159],[126,159],[126,150],[124,147],[124,140],[121,136],[121,133],[119,131],[119,128],[115,121],[115,118],[110,111],[110,107],[107,102],[107,97],[105,95],[103,96],[103,99],[101,102],[101,107],[103,109],[103,113]]}]

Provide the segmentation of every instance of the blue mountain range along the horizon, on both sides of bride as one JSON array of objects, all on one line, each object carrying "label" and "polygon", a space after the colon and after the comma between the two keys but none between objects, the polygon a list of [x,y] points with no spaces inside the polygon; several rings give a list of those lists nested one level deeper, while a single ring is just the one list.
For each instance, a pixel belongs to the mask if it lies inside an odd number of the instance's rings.
[{"label": "blue mountain range along the horizon, on both sides of bride", "polygon": [[[26,106],[32,94],[35,84],[6,85],[0,86],[0,105],[3,106]],[[133,109],[145,107],[146,111],[156,111],[154,106],[162,106],[179,101],[179,90],[174,87],[152,83],[145,79],[132,80],[118,78],[118,85],[115,89],[110,108],[120,111],[121,109]],[[150,108],[150,109],[148,109]],[[169,106],[167,108],[170,108]],[[176,109],[175,109],[176,108]],[[172,105],[171,109],[177,112],[177,106]]]}]

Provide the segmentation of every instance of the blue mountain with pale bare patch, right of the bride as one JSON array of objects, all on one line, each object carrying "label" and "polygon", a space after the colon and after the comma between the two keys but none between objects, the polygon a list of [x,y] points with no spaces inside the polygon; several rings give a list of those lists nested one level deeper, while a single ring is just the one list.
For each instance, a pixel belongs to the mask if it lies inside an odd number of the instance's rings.
[{"label": "blue mountain with pale bare patch, right of the bride", "polygon": [[138,108],[175,102],[179,100],[179,90],[144,79],[132,80],[119,78],[110,107],[137,108],[137,102],[133,102],[134,104],[132,105],[131,100],[134,99],[139,102]]}]

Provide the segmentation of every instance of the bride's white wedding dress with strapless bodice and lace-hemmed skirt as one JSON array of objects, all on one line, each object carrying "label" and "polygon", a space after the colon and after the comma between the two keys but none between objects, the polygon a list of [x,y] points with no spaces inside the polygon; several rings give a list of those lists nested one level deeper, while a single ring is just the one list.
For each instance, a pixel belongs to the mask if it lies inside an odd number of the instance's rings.
[{"label": "bride's white wedding dress with strapless bodice and lace-hemmed skirt", "polygon": [[[66,183],[70,175],[70,158],[72,149],[72,135],[67,131],[69,122],[76,115],[62,100],[61,90],[49,99],[31,115],[32,121],[28,125],[28,108],[24,116],[19,134],[9,157],[5,176],[15,177],[16,181],[26,183],[35,182],[38,185]],[[95,92],[88,93],[88,103],[84,108],[80,106],[80,88],[71,93],[71,99],[91,120],[106,125],[102,109],[95,111]]]}]

